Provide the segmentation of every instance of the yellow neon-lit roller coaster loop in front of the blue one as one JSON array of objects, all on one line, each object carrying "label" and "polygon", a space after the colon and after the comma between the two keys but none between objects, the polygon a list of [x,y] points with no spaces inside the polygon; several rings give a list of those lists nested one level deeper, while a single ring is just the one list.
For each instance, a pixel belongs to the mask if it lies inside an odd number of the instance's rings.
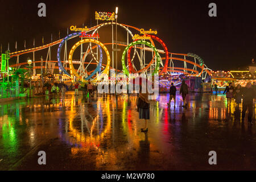
[{"label": "yellow neon-lit roller coaster loop in front of the blue one", "polygon": [[[75,51],[75,49],[77,47],[79,47],[81,44],[83,43],[95,43],[95,44],[98,44],[99,46],[101,46],[101,48],[104,49],[105,53],[106,53],[106,56],[107,56],[107,64],[106,64],[106,67],[104,69],[104,71],[102,73],[105,73],[106,75],[109,75],[109,65],[110,65],[110,55],[109,55],[109,51],[108,49],[104,46],[104,44],[102,44],[100,41],[98,40],[94,40],[94,39],[82,39],[80,40],[79,42],[77,42],[72,48],[71,48],[71,51],[69,52],[69,56],[68,56],[68,61],[69,61],[69,68],[70,68],[70,71],[71,71],[71,77],[73,78],[74,76],[76,76],[77,78],[81,79],[81,76],[75,71],[75,68],[73,67],[73,63],[72,63],[72,56],[73,56],[73,53]],[[101,74],[102,75],[102,74]],[[98,78],[101,78],[98,77]]]}]

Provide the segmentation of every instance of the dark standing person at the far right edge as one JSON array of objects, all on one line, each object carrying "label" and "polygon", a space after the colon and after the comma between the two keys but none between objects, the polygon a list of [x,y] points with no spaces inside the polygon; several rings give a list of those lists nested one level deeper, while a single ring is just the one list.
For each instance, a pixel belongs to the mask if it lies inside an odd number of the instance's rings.
[{"label": "dark standing person at the far right edge", "polygon": [[248,109],[248,111],[249,111],[248,122],[250,124],[252,124],[251,119],[253,117],[253,105],[254,105],[253,99],[255,97],[255,91],[251,87],[250,82],[247,82],[246,88],[245,88],[244,92],[242,93],[242,97],[243,97],[242,121],[245,119],[245,113],[246,113],[246,110]]}]

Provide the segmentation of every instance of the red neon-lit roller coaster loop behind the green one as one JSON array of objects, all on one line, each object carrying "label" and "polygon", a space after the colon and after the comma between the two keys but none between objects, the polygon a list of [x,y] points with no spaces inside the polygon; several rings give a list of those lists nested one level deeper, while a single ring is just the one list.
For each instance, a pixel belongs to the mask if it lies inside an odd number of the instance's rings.
[{"label": "red neon-lit roller coaster loop behind the green one", "polygon": [[[160,71],[160,73],[159,73],[159,75],[163,75],[163,73],[166,73],[167,66],[168,66],[168,60],[169,60],[168,49],[166,47],[166,44],[164,44],[163,40],[159,39],[155,35],[147,35],[147,36],[150,36],[151,39],[154,39],[157,42],[159,42],[161,44],[161,46],[164,48],[164,52],[166,53],[166,63],[164,64],[164,67],[163,67],[162,71]],[[127,53],[130,73],[140,73],[140,72],[143,72],[144,70],[148,69],[152,63],[154,63],[154,56],[155,55],[153,56],[153,59],[150,61],[150,63],[145,68],[143,68],[143,69],[139,70],[138,72],[136,72],[133,67],[130,67],[130,65],[131,65],[130,52],[131,52],[131,48],[129,48],[129,51]]]}]

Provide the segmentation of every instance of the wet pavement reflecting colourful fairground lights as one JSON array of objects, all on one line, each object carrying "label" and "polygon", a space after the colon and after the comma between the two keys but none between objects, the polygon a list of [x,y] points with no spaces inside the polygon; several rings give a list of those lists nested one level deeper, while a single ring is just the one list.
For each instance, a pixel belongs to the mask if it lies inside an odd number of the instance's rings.
[{"label": "wet pavement reflecting colourful fairground lights", "polygon": [[[223,94],[189,94],[188,108],[160,94],[141,133],[136,96],[92,99],[68,92],[0,105],[0,170],[256,169],[255,122]],[[255,116],[254,116],[255,118]],[[46,165],[38,152],[46,152]],[[216,151],[217,165],[209,165]]]}]

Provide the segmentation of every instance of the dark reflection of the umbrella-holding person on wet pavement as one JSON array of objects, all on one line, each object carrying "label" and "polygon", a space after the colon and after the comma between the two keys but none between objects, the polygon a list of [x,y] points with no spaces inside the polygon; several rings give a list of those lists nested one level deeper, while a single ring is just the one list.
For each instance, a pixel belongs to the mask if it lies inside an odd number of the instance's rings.
[{"label": "dark reflection of the umbrella-holding person on wet pavement", "polygon": [[139,141],[139,151],[138,151],[138,169],[148,169],[150,168],[150,142],[148,142],[147,133],[143,132],[145,139]]}]

